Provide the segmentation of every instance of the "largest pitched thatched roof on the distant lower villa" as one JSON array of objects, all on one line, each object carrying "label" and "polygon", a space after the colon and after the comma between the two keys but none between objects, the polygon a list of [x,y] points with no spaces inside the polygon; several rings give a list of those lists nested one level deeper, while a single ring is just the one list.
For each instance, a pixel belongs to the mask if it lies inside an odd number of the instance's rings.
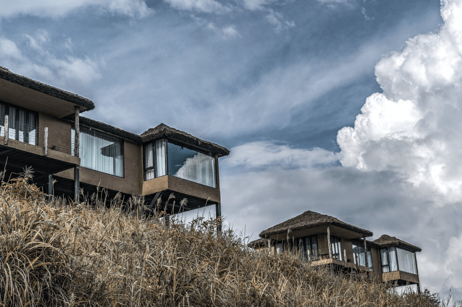
[{"label": "largest pitched thatched roof on the distant lower villa", "polygon": [[365,235],[366,237],[370,237],[373,235],[372,232],[368,230],[346,224],[345,222],[342,222],[341,220],[333,216],[320,214],[313,211],[306,211],[300,215],[286,220],[285,222],[282,222],[281,224],[278,224],[276,226],[268,228],[267,230],[262,231],[260,233],[260,237],[265,238],[276,234],[287,233],[289,229],[291,231],[295,231],[324,225],[333,225],[344,229],[348,229]]}]

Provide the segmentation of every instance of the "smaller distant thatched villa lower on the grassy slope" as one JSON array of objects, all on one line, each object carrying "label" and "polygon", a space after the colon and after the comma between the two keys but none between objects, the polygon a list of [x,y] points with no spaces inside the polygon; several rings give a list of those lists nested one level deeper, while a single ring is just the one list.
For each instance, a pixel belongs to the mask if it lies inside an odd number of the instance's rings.
[{"label": "smaller distant thatched villa lower on the grassy slope", "polygon": [[330,216],[306,211],[260,233],[248,244],[270,253],[293,253],[312,265],[330,265],[357,277],[396,286],[417,285],[420,291],[416,253],[421,248],[395,237],[373,234]]}]

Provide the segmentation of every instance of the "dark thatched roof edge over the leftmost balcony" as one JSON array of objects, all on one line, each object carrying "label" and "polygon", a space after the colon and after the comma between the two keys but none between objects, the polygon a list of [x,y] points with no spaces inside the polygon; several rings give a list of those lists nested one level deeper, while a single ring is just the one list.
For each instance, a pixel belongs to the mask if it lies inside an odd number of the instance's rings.
[{"label": "dark thatched roof edge over the leftmost balcony", "polygon": [[78,95],[29,79],[28,77],[15,74],[2,66],[0,66],[0,78],[41,93],[66,100],[80,106],[84,106],[87,108],[87,110],[92,110],[95,108],[93,101],[87,98],[80,97]]}]

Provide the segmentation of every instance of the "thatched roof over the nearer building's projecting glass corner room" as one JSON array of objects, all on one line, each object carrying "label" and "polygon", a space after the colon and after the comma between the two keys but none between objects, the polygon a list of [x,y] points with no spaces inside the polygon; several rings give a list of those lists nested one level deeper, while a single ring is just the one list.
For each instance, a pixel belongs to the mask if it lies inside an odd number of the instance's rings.
[{"label": "thatched roof over the nearer building's projecting glass corner room", "polygon": [[203,148],[207,151],[218,153],[221,156],[229,155],[229,150],[220,145],[204,141],[203,139],[200,139],[184,131],[180,131],[175,128],[169,127],[163,123],[141,134],[141,139],[143,143],[155,141],[156,139],[162,137],[172,137],[182,143],[185,143],[186,145],[192,145],[195,147]]}]

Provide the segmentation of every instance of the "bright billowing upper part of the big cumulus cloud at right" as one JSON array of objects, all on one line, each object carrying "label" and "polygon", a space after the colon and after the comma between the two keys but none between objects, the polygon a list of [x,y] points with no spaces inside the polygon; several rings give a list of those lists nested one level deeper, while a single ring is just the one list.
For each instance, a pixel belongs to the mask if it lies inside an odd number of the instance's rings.
[{"label": "bright billowing upper part of the big cumulus cloud at right", "polygon": [[[462,2],[445,2],[439,33],[419,35],[375,67],[383,94],[367,98],[355,127],[339,131],[340,161],[398,170],[462,201]],[[443,201],[443,202],[444,202]]]}]

